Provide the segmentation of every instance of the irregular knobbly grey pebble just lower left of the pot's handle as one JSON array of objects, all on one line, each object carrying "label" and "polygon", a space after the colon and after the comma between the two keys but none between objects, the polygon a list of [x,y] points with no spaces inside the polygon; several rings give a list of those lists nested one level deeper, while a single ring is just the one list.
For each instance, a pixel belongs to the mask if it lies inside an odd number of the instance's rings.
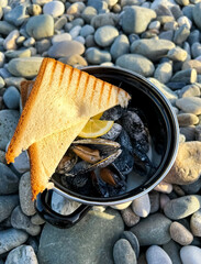
[{"label": "irregular knobbly grey pebble just lower left of the pot's handle", "polygon": [[24,230],[31,235],[37,235],[41,232],[41,227],[33,224],[31,219],[22,212],[20,206],[12,211],[11,224],[13,228]]}]

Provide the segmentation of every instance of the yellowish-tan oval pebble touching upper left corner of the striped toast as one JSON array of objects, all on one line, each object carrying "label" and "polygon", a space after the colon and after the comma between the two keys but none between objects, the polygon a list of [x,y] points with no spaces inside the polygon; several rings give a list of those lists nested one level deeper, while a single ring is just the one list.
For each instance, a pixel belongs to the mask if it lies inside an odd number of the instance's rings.
[{"label": "yellowish-tan oval pebble touching upper left corner of the striped toast", "polygon": [[33,78],[37,75],[42,61],[43,57],[13,58],[8,64],[8,70],[16,77]]}]

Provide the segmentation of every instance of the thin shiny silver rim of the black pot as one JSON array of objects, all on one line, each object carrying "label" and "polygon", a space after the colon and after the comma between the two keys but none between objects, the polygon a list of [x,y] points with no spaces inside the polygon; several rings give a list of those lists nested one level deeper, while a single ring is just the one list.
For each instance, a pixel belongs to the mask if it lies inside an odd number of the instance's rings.
[{"label": "thin shiny silver rim of the black pot", "polygon": [[[168,164],[168,166],[166,167],[166,169],[163,172],[161,176],[154,183],[152,184],[148,188],[144,188],[142,189],[142,191],[139,194],[136,194],[134,196],[131,196],[129,198],[120,198],[116,200],[116,197],[115,197],[115,200],[110,200],[110,201],[94,201],[94,200],[91,200],[92,197],[90,197],[90,200],[88,199],[83,199],[83,198],[79,198],[77,196],[74,196],[72,194],[68,194],[62,189],[59,189],[58,187],[55,186],[55,184],[53,183],[53,190],[56,191],[57,194],[62,195],[63,197],[67,198],[67,199],[70,199],[70,200],[74,200],[74,201],[77,201],[77,202],[80,202],[80,204],[85,204],[85,205],[89,205],[89,206],[115,206],[115,205],[120,205],[120,204],[124,204],[124,202],[130,202],[136,198],[139,198],[141,196],[149,193],[152,189],[154,189],[154,187],[156,187],[164,178],[165,176],[168,174],[168,172],[170,170],[170,168],[172,167],[174,163],[175,163],[175,160],[176,160],[176,156],[177,156],[177,152],[178,152],[178,147],[179,147],[179,124],[178,124],[178,121],[177,121],[177,116],[172,109],[172,106],[170,103],[170,101],[165,97],[165,95],[159,90],[159,88],[157,88],[154,84],[152,84],[147,78],[145,78],[144,76],[135,73],[135,72],[132,72],[130,69],[124,69],[124,68],[121,68],[121,67],[114,67],[114,66],[86,66],[86,67],[81,67],[80,68],[81,70],[90,70],[90,69],[111,69],[111,70],[120,70],[121,73],[124,73],[124,74],[130,74],[132,76],[135,76],[137,78],[139,78],[141,80],[147,82],[150,87],[154,88],[154,90],[159,95],[159,97],[163,98],[172,120],[175,121],[174,124],[175,124],[175,144],[174,144],[174,150],[172,150],[172,155],[171,155],[171,160]],[[111,197],[112,198],[112,197]],[[107,199],[107,198],[105,198]]]}]

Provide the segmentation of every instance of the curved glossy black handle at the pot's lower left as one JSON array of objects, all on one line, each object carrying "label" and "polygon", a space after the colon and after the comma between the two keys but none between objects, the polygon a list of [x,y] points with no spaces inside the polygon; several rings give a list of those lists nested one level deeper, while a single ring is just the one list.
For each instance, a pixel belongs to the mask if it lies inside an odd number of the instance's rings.
[{"label": "curved glossy black handle at the pot's lower left", "polygon": [[45,189],[42,194],[37,195],[35,201],[35,208],[38,215],[48,223],[57,228],[70,228],[85,217],[85,215],[91,209],[90,206],[81,205],[72,213],[63,216],[54,211],[49,204],[52,199],[53,190]]}]

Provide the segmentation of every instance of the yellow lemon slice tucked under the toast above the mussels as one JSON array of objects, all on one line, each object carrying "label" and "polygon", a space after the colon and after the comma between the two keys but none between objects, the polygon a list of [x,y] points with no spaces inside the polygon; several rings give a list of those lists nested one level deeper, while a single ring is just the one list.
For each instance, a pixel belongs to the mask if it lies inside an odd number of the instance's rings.
[{"label": "yellow lemon slice tucked under the toast above the mussels", "polygon": [[80,138],[98,138],[105,134],[113,125],[114,121],[90,119],[82,131]]}]

